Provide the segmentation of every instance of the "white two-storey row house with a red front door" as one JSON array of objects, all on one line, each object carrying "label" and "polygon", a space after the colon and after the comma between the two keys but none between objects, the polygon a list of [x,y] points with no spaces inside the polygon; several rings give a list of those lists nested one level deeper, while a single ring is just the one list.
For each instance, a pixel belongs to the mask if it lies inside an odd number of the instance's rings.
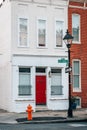
[{"label": "white two-storey row house with a red front door", "polygon": [[2,0],[0,108],[68,109],[68,0]]}]

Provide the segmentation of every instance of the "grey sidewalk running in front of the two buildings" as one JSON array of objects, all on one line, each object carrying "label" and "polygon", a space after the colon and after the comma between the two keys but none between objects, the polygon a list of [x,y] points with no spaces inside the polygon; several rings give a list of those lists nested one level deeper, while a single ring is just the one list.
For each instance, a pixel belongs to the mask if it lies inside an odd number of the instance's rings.
[{"label": "grey sidewalk running in front of the two buildings", "polygon": [[27,113],[9,113],[0,110],[0,123],[58,123],[87,121],[87,109],[73,111],[73,117],[67,117],[67,111],[38,111],[33,112],[33,120],[27,121]]}]

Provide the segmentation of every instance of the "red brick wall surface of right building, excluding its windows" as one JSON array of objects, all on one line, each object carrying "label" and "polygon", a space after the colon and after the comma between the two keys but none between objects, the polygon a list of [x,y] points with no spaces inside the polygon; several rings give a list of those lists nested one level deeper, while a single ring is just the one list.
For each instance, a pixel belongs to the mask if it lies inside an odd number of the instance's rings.
[{"label": "red brick wall surface of right building, excluding its windows", "polygon": [[[69,7],[68,10],[68,29],[72,34],[72,13],[80,15],[80,35],[81,44],[73,44],[71,48],[72,59],[81,60],[81,92],[73,92],[72,95],[81,97],[82,108],[87,107],[87,9],[82,8],[82,3],[71,2],[70,5],[79,6],[81,8]],[[86,4],[87,6],[87,4]],[[72,62],[71,62],[72,63]]]}]

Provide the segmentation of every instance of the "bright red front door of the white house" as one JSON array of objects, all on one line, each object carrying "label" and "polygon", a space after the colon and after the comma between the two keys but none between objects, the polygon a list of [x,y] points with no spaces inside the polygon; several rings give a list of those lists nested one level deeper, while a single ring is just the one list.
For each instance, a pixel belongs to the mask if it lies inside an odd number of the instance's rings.
[{"label": "bright red front door of the white house", "polygon": [[36,104],[46,104],[46,76],[36,76]]}]

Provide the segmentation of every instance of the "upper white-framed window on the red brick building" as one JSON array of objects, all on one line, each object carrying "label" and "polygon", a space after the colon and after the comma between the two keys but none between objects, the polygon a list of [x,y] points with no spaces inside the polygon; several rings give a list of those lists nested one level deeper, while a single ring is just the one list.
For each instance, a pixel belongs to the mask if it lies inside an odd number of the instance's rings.
[{"label": "upper white-framed window on the red brick building", "polygon": [[72,14],[72,35],[73,41],[80,42],[80,15]]}]

